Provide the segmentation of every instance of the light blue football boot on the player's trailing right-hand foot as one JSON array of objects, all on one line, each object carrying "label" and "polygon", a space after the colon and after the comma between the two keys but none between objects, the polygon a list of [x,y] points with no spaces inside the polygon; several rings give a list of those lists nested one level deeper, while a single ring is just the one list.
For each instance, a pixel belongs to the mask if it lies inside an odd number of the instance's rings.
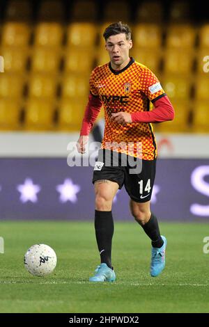
[{"label": "light blue football boot on the player's trailing right-hand foot", "polygon": [[161,248],[152,248],[152,258],[150,265],[150,275],[152,277],[157,277],[160,275],[165,266],[165,250],[167,247],[167,239],[161,236],[164,244]]}]

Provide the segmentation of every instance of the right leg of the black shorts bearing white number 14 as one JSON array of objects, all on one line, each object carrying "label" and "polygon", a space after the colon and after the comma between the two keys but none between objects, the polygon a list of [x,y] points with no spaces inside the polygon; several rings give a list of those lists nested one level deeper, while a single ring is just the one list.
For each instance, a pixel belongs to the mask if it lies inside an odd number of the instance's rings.
[{"label": "right leg of the black shorts bearing white number 14", "polygon": [[155,182],[156,160],[142,160],[141,171],[130,173],[125,170],[125,189],[134,202],[144,203],[150,201]]}]

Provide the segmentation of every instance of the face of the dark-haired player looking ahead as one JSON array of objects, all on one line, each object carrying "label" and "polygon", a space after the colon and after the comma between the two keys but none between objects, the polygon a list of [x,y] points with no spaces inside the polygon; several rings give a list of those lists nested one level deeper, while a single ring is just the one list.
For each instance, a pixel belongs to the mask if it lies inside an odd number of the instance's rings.
[{"label": "face of the dark-haired player looking ahead", "polygon": [[125,33],[111,35],[105,45],[109,52],[111,66],[121,70],[129,62],[129,50],[132,48],[132,40],[126,40]]}]

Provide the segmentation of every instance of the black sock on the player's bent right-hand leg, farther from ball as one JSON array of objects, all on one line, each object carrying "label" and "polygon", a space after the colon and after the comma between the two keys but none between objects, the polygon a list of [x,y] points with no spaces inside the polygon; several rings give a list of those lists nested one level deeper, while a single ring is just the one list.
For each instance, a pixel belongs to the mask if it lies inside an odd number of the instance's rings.
[{"label": "black sock on the player's bent right-hand leg, farther from ball", "polygon": [[141,225],[141,227],[151,239],[153,248],[161,248],[161,246],[163,246],[164,241],[160,236],[160,229],[157,223],[157,218],[153,214],[151,214],[150,220],[146,224]]}]

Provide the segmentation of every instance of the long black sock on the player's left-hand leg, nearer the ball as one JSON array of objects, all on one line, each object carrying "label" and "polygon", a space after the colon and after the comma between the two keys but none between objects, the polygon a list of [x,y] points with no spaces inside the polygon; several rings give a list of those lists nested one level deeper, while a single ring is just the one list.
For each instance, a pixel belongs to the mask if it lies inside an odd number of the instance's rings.
[{"label": "long black sock on the player's left-hand leg, nearer the ball", "polygon": [[95,210],[95,236],[100,251],[101,263],[111,266],[111,239],[114,234],[114,221],[111,212]]}]

